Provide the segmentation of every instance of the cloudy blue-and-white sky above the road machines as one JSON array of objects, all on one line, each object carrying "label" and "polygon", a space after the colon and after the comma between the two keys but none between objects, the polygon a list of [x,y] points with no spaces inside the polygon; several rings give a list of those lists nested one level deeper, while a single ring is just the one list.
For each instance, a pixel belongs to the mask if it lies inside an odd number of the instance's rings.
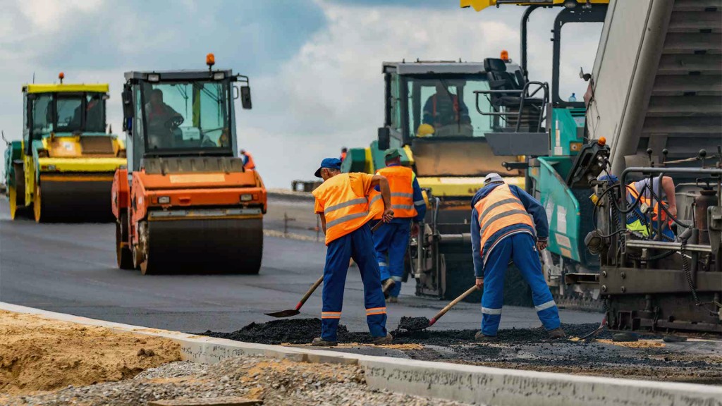
[{"label": "cloudy blue-and-white sky above the road machines", "polygon": [[[383,124],[382,61],[518,59],[523,9],[474,12],[458,0],[0,0],[0,129],[19,139],[22,84],[108,82],[121,129],[123,72],[217,67],[251,77],[253,110],[237,107],[239,144],[266,186],[313,178],[322,157],[366,146]],[[558,10],[558,9],[557,9]],[[530,77],[550,80],[556,11],[531,21]],[[567,33],[568,32],[568,33]],[[567,35],[568,34],[568,35]],[[599,27],[565,27],[564,97],[586,84]],[[567,38],[565,37],[565,38]],[[4,145],[0,148],[4,148]]]}]

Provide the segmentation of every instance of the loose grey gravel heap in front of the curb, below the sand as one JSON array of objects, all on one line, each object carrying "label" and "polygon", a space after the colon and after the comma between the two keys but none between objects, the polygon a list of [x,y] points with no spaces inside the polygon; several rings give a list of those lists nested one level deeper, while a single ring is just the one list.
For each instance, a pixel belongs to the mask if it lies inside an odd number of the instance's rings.
[{"label": "loose grey gravel heap in front of the curb, below the sand", "polygon": [[157,399],[181,397],[247,397],[265,405],[462,406],[369,389],[362,368],[335,364],[295,363],[242,357],[213,366],[168,363],[139,373],[134,379],[91,386],[68,386],[58,392],[13,397],[7,405],[147,405]]}]

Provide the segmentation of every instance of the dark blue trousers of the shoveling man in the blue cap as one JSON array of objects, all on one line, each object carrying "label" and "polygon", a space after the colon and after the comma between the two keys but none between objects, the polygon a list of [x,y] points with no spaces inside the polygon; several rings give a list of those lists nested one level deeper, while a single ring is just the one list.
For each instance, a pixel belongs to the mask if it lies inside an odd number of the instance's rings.
[{"label": "dark blue trousers of the shoveling man in the blue cap", "polygon": [[386,337],[386,301],[381,290],[381,278],[373,254],[373,238],[368,225],[331,241],[323,268],[323,310],[321,338],[336,341],[336,329],[344,303],[344,285],[353,258],[361,272],[366,306],[366,321],[373,337]]}]

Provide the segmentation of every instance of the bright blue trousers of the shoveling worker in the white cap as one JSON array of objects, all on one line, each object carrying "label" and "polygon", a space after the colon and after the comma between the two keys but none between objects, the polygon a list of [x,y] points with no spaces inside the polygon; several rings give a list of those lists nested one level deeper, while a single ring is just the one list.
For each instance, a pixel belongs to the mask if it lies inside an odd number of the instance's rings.
[{"label": "bright blue trousers of the shoveling worker in the white cap", "polygon": [[541,273],[541,262],[534,238],[529,233],[518,233],[497,243],[484,266],[482,334],[495,336],[499,329],[504,302],[504,273],[510,259],[514,260],[521,275],[531,286],[531,299],[541,324],[544,324],[547,331],[559,327],[559,309]]}]

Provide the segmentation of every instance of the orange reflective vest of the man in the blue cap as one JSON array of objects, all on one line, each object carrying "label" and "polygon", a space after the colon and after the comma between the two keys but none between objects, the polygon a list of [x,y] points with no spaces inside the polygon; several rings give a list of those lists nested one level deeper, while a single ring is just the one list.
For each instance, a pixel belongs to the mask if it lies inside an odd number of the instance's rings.
[{"label": "orange reflective vest of the man in the blue cap", "polygon": [[323,181],[312,192],[323,206],[323,216],[326,217],[326,245],[354,232],[378,212],[369,204],[370,199],[380,196],[377,191],[372,191],[368,196],[359,196],[352,189],[351,176],[359,175],[362,174],[341,173]]}]

